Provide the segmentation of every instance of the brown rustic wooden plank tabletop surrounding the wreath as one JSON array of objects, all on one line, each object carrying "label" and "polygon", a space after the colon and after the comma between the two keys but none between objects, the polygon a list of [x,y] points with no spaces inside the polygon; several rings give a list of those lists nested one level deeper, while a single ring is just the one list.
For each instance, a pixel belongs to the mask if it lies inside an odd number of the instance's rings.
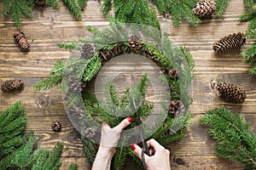
[{"label": "brown rustic wooden plank tabletop surrounding the wreath", "polygon": [[[49,77],[49,71],[58,59],[68,59],[70,52],[56,47],[57,42],[73,41],[89,36],[84,26],[106,26],[107,20],[100,12],[96,1],[89,1],[83,13],[83,20],[74,20],[67,8],[34,9],[32,19],[24,19],[21,28],[16,28],[10,17],[2,14],[0,3],[0,83],[16,78],[22,79],[26,87],[20,93],[0,93],[0,111],[21,100],[28,116],[27,130],[33,130],[38,136],[38,147],[52,150],[57,142],[65,144],[61,169],[72,162],[79,169],[90,169],[84,157],[79,133],[73,128],[65,113],[61,93],[58,88],[36,92],[32,85]],[[195,59],[195,78],[189,92],[193,96],[191,111],[195,113],[193,124],[187,130],[187,136],[178,144],[171,144],[172,169],[243,169],[244,165],[236,161],[214,156],[214,141],[209,138],[198,120],[206,111],[225,105],[232,111],[241,111],[246,120],[252,123],[256,133],[256,77],[247,74],[249,68],[243,62],[239,52],[214,54],[212,42],[227,34],[246,31],[247,23],[239,21],[239,15],[246,12],[241,0],[231,0],[222,18],[212,17],[203,20],[200,26],[190,26],[185,20],[179,27],[172,26],[172,20],[159,15],[162,31],[166,31],[175,45],[189,48]],[[24,31],[31,48],[29,53],[20,52],[14,41],[15,31]],[[242,49],[253,42],[247,42]],[[210,83],[233,82],[247,90],[247,100],[242,105],[225,103],[212,93]],[[62,124],[61,133],[51,130],[51,122]],[[128,162],[125,169],[136,169]]]}]

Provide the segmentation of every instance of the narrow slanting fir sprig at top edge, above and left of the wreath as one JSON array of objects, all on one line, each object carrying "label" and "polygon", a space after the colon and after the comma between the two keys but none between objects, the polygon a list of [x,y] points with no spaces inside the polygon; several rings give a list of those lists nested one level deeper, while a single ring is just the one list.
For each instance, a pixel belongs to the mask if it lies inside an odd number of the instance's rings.
[{"label": "narrow slanting fir sprig at top edge, above and left of the wreath", "polygon": [[79,20],[82,19],[82,10],[78,0],[62,0],[62,1],[67,5],[67,8],[71,12],[71,14],[73,14],[74,18]]}]

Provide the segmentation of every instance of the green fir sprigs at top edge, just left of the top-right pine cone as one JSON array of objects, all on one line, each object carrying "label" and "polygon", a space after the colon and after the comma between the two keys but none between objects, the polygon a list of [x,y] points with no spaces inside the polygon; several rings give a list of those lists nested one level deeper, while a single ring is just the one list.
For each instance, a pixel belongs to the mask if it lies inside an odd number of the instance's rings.
[{"label": "green fir sprigs at top edge, just left of the top-right pine cone", "polygon": [[161,14],[171,14],[174,26],[179,26],[185,18],[192,26],[198,26],[201,20],[192,12],[197,0],[152,0]]}]

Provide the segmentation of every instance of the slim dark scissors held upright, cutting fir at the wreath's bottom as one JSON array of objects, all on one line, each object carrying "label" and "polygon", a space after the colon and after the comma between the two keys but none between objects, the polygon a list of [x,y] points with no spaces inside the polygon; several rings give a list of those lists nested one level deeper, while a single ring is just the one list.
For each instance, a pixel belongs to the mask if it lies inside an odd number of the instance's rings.
[{"label": "slim dark scissors held upright, cutting fir at the wreath's bottom", "polygon": [[132,103],[133,103],[133,106],[134,106],[134,109],[135,109],[135,114],[137,116],[137,123],[138,123],[138,128],[139,128],[140,139],[142,140],[142,144],[143,144],[143,150],[142,150],[143,168],[145,170],[147,170],[146,161],[145,161],[145,155],[144,154],[147,154],[149,156],[148,144],[147,144],[147,141],[146,141],[144,133],[143,133],[142,121],[141,121],[141,118],[140,118],[140,116],[138,114],[138,108],[137,108],[137,106],[135,104],[135,99],[134,98],[132,98]]}]

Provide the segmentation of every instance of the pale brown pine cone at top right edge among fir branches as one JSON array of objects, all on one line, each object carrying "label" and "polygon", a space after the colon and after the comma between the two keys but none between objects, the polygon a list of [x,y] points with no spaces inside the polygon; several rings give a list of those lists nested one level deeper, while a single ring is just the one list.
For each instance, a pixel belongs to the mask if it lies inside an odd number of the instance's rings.
[{"label": "pale brown pine cone at top right edge among fir branches", "polygon": [[193,13],[200,17],[206,17],[215,12],[216,3],[213,0],[201,0],[195,4],[195,7],[192,9]]}]

